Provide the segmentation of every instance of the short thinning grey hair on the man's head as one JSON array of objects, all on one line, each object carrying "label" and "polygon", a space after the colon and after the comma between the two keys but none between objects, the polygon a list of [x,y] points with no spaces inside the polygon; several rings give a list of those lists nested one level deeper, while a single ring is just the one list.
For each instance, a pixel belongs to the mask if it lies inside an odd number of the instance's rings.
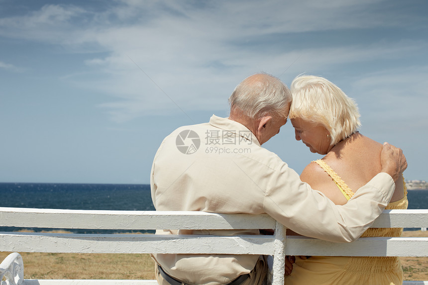
[{"label": "short thinning grey hair on the man's head", "polygon": [[291,92],[281,80],[268,74],[255,74],[236,86],[229,104],[230,109],[238,109],[250,118],[268,114],[286,118],[291,100]]}]

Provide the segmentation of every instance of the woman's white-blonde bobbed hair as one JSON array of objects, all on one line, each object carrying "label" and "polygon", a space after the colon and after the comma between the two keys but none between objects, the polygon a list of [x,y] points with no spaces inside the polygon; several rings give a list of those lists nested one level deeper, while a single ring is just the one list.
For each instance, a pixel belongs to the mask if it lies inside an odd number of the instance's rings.
[{"label": "woman's white-blonde bobbed hair", "polygon": [[355,101],[325,78],[296,77],[291,83],[291,93],[289,117],[300,117],[325,127],[331,136],[330,145],[347,138],[361,125]]}]

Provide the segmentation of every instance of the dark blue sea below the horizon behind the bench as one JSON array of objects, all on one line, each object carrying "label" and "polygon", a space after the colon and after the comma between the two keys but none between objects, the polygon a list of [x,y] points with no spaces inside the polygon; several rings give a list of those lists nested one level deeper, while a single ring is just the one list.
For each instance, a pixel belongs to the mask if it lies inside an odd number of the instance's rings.
[{"label": "dark blue sea below the horizon behind the bench", "polygon": [[[428,209],[428,190],[409,190],[408,209]],[[0,183],[0,207],[75,210],[155,210],[147,184]],[[0,227],[0,231],[21,230]],[[49,230],[31,228],[34,231]],[[111,230],[65,229],[74,233]],[[405,228],[405,230],[416,230]],[[114,230],[114,232],[121,232]],[[122,231],[123,232],[123,231]],[[130,232],[127,230],[126,232]],[[143,231],[144,232],[144,231]],[[149,231],[151,232],[151,231]]]}]

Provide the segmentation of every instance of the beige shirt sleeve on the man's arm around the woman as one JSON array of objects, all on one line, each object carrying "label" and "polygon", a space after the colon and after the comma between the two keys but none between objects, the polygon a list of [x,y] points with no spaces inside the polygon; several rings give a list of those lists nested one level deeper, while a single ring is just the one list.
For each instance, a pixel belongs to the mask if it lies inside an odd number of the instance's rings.
[{"label": "beige shirt sleeve on the man's arm around the woman", "polygon": [[360,237],[385,209],[395,190],[391,176],[380,173],[346,204],[335,205],[303,183],[287,165],[272,179],[264,199],[266,213],[301,235],[335,242]]}]

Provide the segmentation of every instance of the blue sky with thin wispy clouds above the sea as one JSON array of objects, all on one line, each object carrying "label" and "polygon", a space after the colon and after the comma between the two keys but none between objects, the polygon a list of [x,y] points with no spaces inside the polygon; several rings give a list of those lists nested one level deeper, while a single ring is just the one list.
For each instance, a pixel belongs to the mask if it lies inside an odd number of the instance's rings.
[{"label": "blue sky with thin wispy clouds above the sea", "polygon": [[[428,180],[426,0],[0,0],[0,182],[148,184],[160,143],[244,78],[322,76]],[[321,158],[291,123],[263,145]]]}]

